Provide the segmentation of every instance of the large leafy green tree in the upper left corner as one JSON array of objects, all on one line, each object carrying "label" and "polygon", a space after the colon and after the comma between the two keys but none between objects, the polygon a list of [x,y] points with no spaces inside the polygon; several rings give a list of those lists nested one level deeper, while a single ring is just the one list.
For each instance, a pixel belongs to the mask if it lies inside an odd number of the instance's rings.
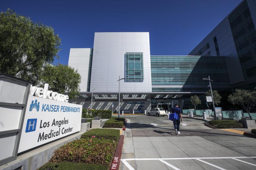
[{"label": "large leafy green tree in the upper left corner", "polygon": [[37,85],[44,66],[59,58],[60,43],[52,27],[10,9],[0,12],[0,73]]}]

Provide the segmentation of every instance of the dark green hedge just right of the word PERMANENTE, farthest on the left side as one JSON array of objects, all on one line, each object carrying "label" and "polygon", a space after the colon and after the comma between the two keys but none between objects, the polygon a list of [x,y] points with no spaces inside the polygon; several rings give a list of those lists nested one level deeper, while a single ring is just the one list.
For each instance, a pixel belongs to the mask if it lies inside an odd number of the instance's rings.
[{"label": "dark green hedge just right of the word PERMANENTE, farthest on the left side", "polygon": [[112,116],[112,110],[95,110],[95,109],[82,110],[82,117],[94,118],[96,116],[101,117],[101,119],[109,119]]}]

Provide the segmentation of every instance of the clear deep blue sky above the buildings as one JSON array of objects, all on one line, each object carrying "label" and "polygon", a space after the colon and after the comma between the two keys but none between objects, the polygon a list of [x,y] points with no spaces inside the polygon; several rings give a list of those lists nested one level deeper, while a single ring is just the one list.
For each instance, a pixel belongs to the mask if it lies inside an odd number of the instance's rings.
[{"label": "clear deep blue sky above the buildings", "polygon": [[70,48],[93,48],[94,32],[149,32],[151,55],[187,55],[242,0],[8,0],[13,9],[52,26],[62,39],[60,59]]}]

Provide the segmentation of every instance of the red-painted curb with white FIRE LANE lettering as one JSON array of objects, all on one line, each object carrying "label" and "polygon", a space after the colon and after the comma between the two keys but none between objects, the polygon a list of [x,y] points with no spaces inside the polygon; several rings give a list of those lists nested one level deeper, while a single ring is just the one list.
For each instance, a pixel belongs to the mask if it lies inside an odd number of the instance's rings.
[{"label": "red-painted curb with white FIRE LANE lettering", "polygon": [[123,139],[124,139],[124,136],[120,135],[120,139],[116,146],[116,152],[115,152],[110,170],[118,170],[119,169],[119,164],[120,164],[121,155],[122,155],[122,148],[123,148]]}]

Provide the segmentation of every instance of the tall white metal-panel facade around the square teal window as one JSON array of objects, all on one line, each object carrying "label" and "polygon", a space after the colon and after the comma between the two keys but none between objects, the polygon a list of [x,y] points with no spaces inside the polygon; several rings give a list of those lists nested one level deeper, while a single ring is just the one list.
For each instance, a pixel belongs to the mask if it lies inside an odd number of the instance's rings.
[{"label": "tall white metal-panel facade around the square teal window", "polygon": [[[120,92],[151,92],[149,32],[95,32],[91,89],[118,92],[118,78],[125,77],[125,54],[143,53],[143,82],[120,82]],[[90,91],[91,91],[90,89]]]}]

